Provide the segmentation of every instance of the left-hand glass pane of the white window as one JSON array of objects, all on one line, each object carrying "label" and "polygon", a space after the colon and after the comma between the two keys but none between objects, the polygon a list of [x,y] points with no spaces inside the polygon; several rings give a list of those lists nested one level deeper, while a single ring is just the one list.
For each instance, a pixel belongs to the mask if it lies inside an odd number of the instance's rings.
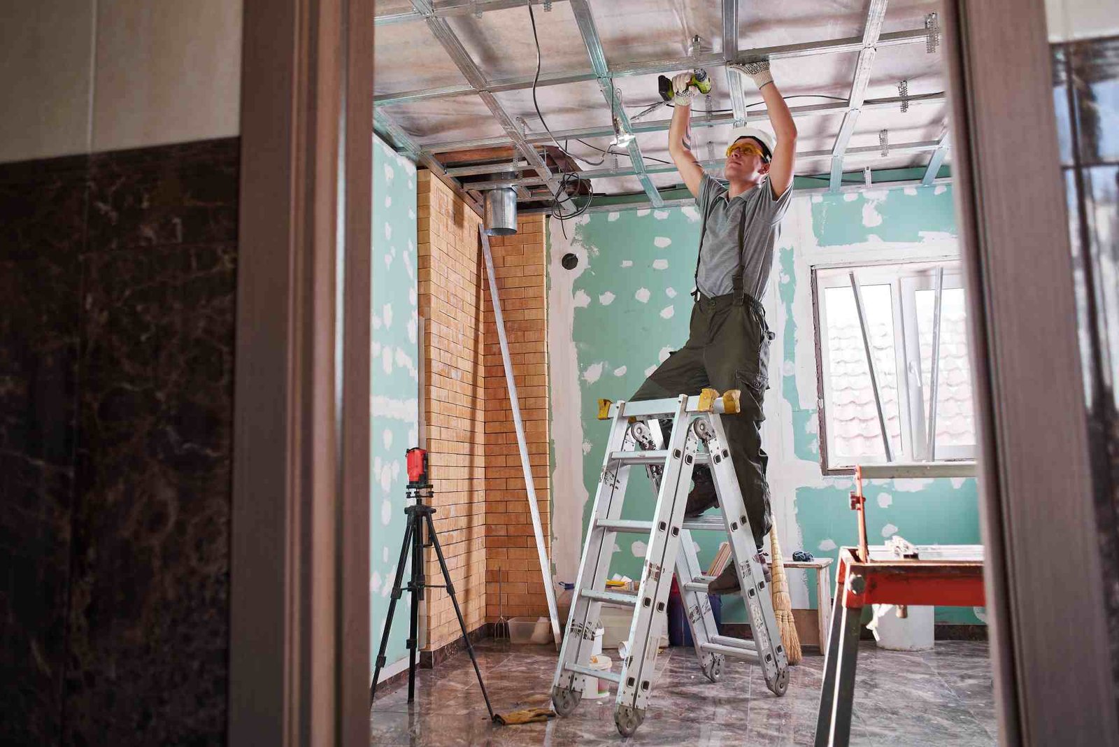
[{"label": "left-hand glass pane of the white window", "polygon": [[[862,286],[863,305],[871,333],[871,348],[878,374],[886,433],[896,458],[902,452],[901,415],[897,405],[897,358],[894,348],[894,312],[890,285]],[[825,289],[828,335],[828,434],[834,463],[853,464],[864,456],[885,457],[878,410],[874,404],[866,366],[863,333],[850,287]]]}]

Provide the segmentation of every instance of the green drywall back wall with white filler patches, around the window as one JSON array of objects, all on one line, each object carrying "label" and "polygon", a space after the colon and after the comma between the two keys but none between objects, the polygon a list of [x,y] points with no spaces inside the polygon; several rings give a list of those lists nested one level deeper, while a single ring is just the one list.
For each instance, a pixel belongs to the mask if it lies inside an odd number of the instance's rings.
[{"label": "green drywall back wall with white filler patches, around the window", "polygon": [[[549,231],[549,254],[585,252],[585,266],[564,271],[549,256],[551,273],[577,275],[573,282],[567,278],[555,284],[549,277],[549,287],[570,285],[571,299],[565,299],[564,305],[574,306],[572,339],[549,340],[549,354],[553,360],[574,354],[577,361],[582,475],[590,495],[582,507],[585,535],[609,431],[609,423],[596,419],[596,401],[600,397],[628,397],[668,350],[684,344],[699,216],[694,207],[598,212],[571,221],[567,231],[572,234],[570,246]],[[921,243],[955,234],[952,196],[946,187],[800,197],[790,210],[773,266],[775,289],[770,293],[775,297],[765,301],[780,341],[770,363],[772,389],[767,393],[768,408],[779,398],[779,415],[771,412],[769,417],[788,423],[768,423],[765,450],[771,484],[780,490],[773,497],[774,505],[780,507],[778,520],[786,513],[794,516],[796,527],[782,530],[786,537],[794,538],[791,543],[786,540],[787,555],[805,548],[818,557],[837,557],[839,546],[856,539],[855,514],[847,500],[850,480],[825,477],[819,470],[811,283],[805,253],[819,256],[826,250],[828,261],[836,262],[845,250],[865,253],[868,247],[901,243],[920,252]],[[568,469],[556,461],[553,465],[553,470]],[[868,495],[872,538],[882,537],[883,530],[892,527],[896,529],[887,533],[900,533],[915,543],[979,542],[975,480],[875,481]],[[884,497],[881,505],[880,495]],[[648,481],[634,470],[623,517],[647,519],[652,501]],[[789,501],[791,512],[784,510]],[[694,539],[705,565],[721,538],[696,532]],[[619,545],[611,574],[638,578],[643,540],[621,535]],[[809,606],[816,604],[814,587],[807,584]],[[744,620],[741,599],[727,597],[724,605],[725,620]],[[938,608],[937,620],[979,622],[971,609],[960,608]]]}]

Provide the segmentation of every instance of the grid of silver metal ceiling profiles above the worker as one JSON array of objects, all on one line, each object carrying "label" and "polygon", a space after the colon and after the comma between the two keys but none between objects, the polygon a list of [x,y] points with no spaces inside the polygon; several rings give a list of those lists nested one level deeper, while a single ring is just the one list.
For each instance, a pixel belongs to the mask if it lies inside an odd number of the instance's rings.
[{"label": "grid of silver metal ceiling profiles above the worker", "polygon": [[[555,0],[562,2],[564,0]],[[547,186],[553,196],[557,196],[565,210],[573,210],[574,204],[564,190],[560,187],[556,174],[552,172],[547,163],[536,150],[536,145],[575,138],[605,138],[615,134],[634,135],[638,133],[667,131],[670,120],[659,120],[650,122],[631,123],[624,110],[617,102],[613,78],[669,73],[673,70],[687,69],[694,67],[712,67],[718,65],[741,64],[751,60],[787,59],[796,57],[810,57],[840,53],[858,53],[850,96],[846,102],[834,102],[810,106],[793,106],[790,112],[794,117],[828,115],[844,113],[844,120],[836,135],[836,140],[828,151],[806,151],[798,153],[800,159],[827,158],[831,159],[829,174],[829,187],[827,191],[845,190],[843,185],[844,159],[849,155],[871,154],[878,152],[880,146],[850,148],[850,138],[855,132],[855,125],[859,113],[863,110],[885,108],[906,103],[913,104],[941,104],[946,101],[944,94],[925,94],[920,96],[894,96],[886,98],[866,98],[866,92],[871,79],[871,70],[876,51],[881,47],[908,45],[918,41],[928,41],[929,30],[927,28],[912,29],[905,31],[893,31],[882,34],[882,25],[885,19],[888,0],[871,0],[871,6],[866,16],[866,23],[859,37],[847,37],[841,39],[830,39],[822,41],[809,41],[791,45],[780,45],[772,47],[758,47],[740,50],[737,46],[739,27],[739,2],[737,0],[723,0],[722,2],[722,25],[723,44],[718,53],[699,53],[689,57],[677,57],[673,59],[658,59],[633,63],[611,69],[606,63],[602,47],[601,36],[594,22],[589,0],[566,0],[571,4],[572,12],[579,25],[580,35],[586,47],[587,57],[591,60],[590,73],[576,74],[549,74],[542,75],[538,86],[563,85],[568,83],[594,81],[599,84],[600,91],[606,103],[611,105],[612,116],[617,117],[615,127],[580,127],[564,131],[553,131],[548,133],[524,132],[514,122],[513,117],[505,111],[497,101],[495,94],[505,91],[520,91],[533,86],[533,78],[527,76],[510,77],[504,79],[487,81],[485,74],[470,57],[458,36],[446,22],[446,18],[454,16],[476,15],[482,12],[504,10],[508,8],[524,7],[526,0],[459,0],[458,2],[443,2],[434,7],[432,0],[411,0],[413,10],[410,12],[389,13],[378,16],[375,20],[377,25],[388,25],[398,22],[424,21],[432,35],[436,38],[446,51],[455,67],[467,79],[466,84],[439,86],[417,91],[406,91],[386,94],[374,97],[375,125],[382,134],[386,135],[396,148],[403,153],[414,159],[421,166],[430,169],[435,176],[448,183],[460,197],[476,210],[481,211],[481,204],[478,199],[478,191],[492,189],[496,187],[516,187],[521,200],[547,199],[543,195],[530,195],[529,187]],[[534,6],[546,6],[545,0],[530,0]],[[547,7],[545,7],[547,9]],[[745,96],[737,76],[727,72],[727,84],[731,94],[733,113],[731,114],[708,114],[702,119],[694,119],[694,127],[715,126],[721,124],[744,124],[750,121],[764,121],[768,112],[764,108],[747,111],[745,107]],[[481,98],[491,115],[505,132],[502,136],[479,138],[472,140],[460,140],[443,143],[417,144],[396,122],[385,112],[386,106],[396,104],[407,104],[435,98],[446,98],[473,94]],[[615,105],[615,103],[618,105]],[[435,159],[438,153],[449,153],[453,151],[464,151],[481,148],[508,148],[517,150],[520,158],[505,164],[477,164],[460,168],[444,169]],[[928,169],[924,178],[919,182],[922,185],[941,183],[938,179],[944,159],[950,148],[950,139],[946,133],[939,141],[921,141],[912,143],[892,144],[888,146],[891,153],[922,152],[931,151]],[[613,177],[637,177],[640,181],[650,207],[662,207],[679,200],[666,202],[660,190],[650,179],[650,174],[668,173],[675,170],[675,166],[647,166],[641,155],[640,148],[636,139],[631,139],[627,144],[631,164],[629,168],[613,169],[591,169],[580,172],[584,179],[603,179]],[[705,167],[722,167],[724,159],[712,159],[704,161]],[[524,171],[532,169],[536,176],[523,177],[518,179],[492,180],[485,182],[471,182],[463,186],[459,177],[479,176],[487,173],[501,173],[508,171]],[[818,191],[818,190],[812,190]],[[686,200],[685,200],[686,202]],[[617,207],[617,206],[614,206]]]}]

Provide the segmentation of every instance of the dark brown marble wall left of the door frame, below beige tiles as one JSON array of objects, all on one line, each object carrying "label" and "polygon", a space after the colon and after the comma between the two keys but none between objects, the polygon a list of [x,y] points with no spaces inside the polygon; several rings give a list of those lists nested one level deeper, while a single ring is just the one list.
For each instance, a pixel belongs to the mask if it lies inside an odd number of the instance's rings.
[{"label": "dark brown marble wall left of the door frame, below beige tiles", "polygon": [[0,166],[0,744],[224,741],[237,152]]}]

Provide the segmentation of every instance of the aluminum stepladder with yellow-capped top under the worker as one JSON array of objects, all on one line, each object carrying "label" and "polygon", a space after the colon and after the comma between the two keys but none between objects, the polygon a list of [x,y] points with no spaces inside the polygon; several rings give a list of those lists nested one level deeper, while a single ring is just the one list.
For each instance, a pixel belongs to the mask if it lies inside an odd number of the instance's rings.
[{"label": "aluminum stepladder with yellow-capped top under the worker", "polygon": [[[659,613],[668,605],[674,570],[704,674],[715,682],[722,674],[725,656],[746,659],[762,666],[771,691],[784,694],[789,684],[789,663],[781,645],[769,585],[761,562],[754,558],[753,532],[720,417],[737,412],[736,390],[720,396],[713,389],[704,389],[698,396],[634,403],[601,400],[599,417],[612,418],[612,423],[580,561],[575,598],[552,680],[552,701],[561,716],[567,716],[579,705],[582,693],[576,678],[587,675],[618,684],[614,724],[622,736],[632,735],[641,725],[655,680]],[[659,418],[665,417],[673,418],[674,427],[667,447],[659,448]],[[721,517],[684,518],[696,464],[711,466]],[[652,521],[621,518],[629,471],[633,465],[646,467],[657,491]],[[707,598],[707,584],[713,578],[702,575],[692,530],[715,530],[727,536],[750,617],[752,641],[718,635]],[[648,537],[636,595],[603,588],[614,539],[621,532]],[[633,607],[620,672],[590,668],[594,631],[599,627],[603,603]]]}]

